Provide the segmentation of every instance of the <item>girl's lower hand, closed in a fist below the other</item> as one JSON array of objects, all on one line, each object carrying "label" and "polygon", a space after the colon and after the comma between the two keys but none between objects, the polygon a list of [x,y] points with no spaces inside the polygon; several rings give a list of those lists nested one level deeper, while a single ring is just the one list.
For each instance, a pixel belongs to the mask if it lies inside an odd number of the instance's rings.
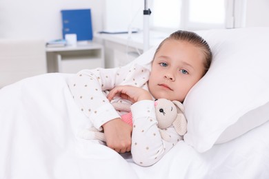
[{"label": "girl's lower hand, closed in a fist below the other", "polygon": [[115,118],[103,124],[103,131],[108,147],[118,153],[125,153],[131,150],[132,126],[123,122],[121,118]]}]

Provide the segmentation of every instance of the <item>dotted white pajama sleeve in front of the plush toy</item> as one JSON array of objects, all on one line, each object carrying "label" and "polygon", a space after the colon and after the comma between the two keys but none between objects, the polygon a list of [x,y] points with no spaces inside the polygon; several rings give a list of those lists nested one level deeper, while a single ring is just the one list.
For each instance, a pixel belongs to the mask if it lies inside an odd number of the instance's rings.
[{"label": "dotted white pajama sleeve in front of the plush toy", "polygon": [[167,132],[170,142],[163,140],[157,127],[154,101],[139,101],[132,105],[132,159],[148,167],[159,161],[181,137],[173,127]]}]

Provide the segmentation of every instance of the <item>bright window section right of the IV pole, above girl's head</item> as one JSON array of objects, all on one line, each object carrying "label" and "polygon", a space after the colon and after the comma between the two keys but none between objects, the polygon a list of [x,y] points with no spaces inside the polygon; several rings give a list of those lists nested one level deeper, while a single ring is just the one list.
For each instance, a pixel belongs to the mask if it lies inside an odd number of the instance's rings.
[{"label": "bright window section right of the IV pole, above girl's head", "polygon": [[152,1],[153,30],[203,30],[226,28],[227,0],[154,0]]}]

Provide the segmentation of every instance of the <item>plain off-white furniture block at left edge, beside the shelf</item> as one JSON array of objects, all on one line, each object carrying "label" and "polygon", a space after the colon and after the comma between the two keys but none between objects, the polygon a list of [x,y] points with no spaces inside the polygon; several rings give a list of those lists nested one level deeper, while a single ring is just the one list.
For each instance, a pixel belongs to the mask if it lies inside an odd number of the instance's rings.
[{"label": "plain off-white furniture block at left edge, beside the shelf", "polygon": [[0,39],[0,88],[23,78],[45,74],[44,44],[41,39]]}]

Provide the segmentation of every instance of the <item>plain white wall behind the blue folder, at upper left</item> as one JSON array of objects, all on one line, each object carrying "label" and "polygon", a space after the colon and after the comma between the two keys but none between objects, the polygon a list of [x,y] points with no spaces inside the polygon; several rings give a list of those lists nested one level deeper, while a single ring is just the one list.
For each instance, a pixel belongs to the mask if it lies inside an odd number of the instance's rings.
[{"label": "plain white wall behind the blue folder, at upper left", "polygon": [[103,29],[104,0],[1,0],[0,39],[60,39],[62,9],[90,8],[93,30]]}]

